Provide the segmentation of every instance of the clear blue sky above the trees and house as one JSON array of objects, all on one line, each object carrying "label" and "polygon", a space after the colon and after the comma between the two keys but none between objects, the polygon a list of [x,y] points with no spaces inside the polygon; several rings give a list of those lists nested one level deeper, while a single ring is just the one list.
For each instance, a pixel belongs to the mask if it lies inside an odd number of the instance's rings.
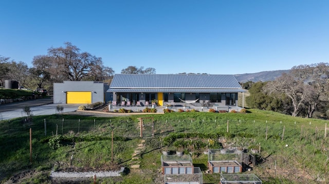
[{"label": "clear blue sky above the trees and house", "polygon": [[329,63],[329,1],[0,1],[0,55],[32,67],[64,42],[115,73],[287,70]]}]

